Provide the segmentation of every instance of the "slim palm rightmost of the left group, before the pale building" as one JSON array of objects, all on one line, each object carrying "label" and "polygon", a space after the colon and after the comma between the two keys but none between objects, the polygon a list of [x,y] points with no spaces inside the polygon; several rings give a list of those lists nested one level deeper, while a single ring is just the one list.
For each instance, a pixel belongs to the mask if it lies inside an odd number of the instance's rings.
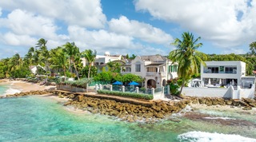
[{"label": "slim palm rightmost of the left group, before the pale building", "polygon": [[74,61],[75,56],[80,55],[78,46],[76,46],[74,44],[74,42],[72,42],[72,43],[66,42],[66,45],[63,45],[63,47],[65,48],[64,51],[69,55],[69,58],[70,58],[70,73],[72,73],[71,63],[73,63],[75,72],[77,73],[78,80],[80,80],[79,74],[78,74],[78,69],[77,69],[77,67],[75,65],[75,61]]}]

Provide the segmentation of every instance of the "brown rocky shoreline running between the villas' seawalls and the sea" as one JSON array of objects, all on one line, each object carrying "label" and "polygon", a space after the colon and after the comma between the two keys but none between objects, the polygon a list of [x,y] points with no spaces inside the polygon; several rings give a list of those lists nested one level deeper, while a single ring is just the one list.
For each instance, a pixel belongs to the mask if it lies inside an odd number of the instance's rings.
[{"label": "brown rocky shoreline running between the villas' seawalls and the sea", "polygon": [[[136,101],[122,101],[111,99],[100,95],[90,95],[86,93],[69,93],[59,90],[46,89],[42,91],[30,91],[25,93],[15,93],[6,95],[9,97],[24,97],[29,95],[54,94],[60,98],[69,98],[65,106],[72,106],[91,113],[100,113],[102,115],[118,117],[120,120],[128,122],[143,121],[153,123],[158,120],[168,119],[172,113],[180,112],[186,105],[204,104],[204,105],[230,105],[243,107],[244,110],[250,110],[256,107],[256,101],[253,99],[229,100],[223,98],[211,97],[185,97],[175,101],[150,101],[138,104]],[[0,98],[5,98],[4,96]]]}]

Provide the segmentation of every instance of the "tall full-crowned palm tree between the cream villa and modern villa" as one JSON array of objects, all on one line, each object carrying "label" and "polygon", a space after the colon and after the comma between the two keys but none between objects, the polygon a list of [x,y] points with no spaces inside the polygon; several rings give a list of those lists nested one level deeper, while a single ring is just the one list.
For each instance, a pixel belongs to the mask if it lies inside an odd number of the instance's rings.
[{"label": "tall full-crowned palm tree between the cream villa and modern villa", "polygon": [[178,96],[181,95],[186,81],[189,81],[194,73],[198,73],[198,63],[205,65],[204,61],[207,60],[207,55],[197,50],[202,46],[202,43],[197,43],[200,39],[201,37],[194,39],[193,34],[185,32],[182,34],[182,40],[176,38],[172,43],[177,49],[170,52],[169,59],[173,63],[178,62],[178,76],[182,78]]}]

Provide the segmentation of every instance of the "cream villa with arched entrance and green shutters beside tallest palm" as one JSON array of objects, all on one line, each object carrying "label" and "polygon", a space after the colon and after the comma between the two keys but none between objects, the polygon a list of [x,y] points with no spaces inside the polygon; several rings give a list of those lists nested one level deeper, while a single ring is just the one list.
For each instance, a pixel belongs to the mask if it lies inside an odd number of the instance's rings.
[{"label": "cream villa with arched entrance and green shutters beside tallest palm", "polygon": [[137,56],[134,60],[122,65],[121,73],[133,73],[145,78],[145,88],[158,88],[166,85],[166,81],[178,77],[178,63],[161,55]]}]

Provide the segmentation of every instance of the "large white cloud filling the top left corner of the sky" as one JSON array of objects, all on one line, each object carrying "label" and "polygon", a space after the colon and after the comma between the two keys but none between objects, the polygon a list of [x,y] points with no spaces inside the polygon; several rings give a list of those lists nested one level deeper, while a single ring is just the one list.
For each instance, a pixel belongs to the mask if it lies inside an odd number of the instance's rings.
[{"label": "large white cloud filling the top left corner of the sky", "polygon": [[34,14],[56,18],[68,25],[102,28],[106,15],[102,13],[100,0],[0,0],[3,9],[29,10]]}]

